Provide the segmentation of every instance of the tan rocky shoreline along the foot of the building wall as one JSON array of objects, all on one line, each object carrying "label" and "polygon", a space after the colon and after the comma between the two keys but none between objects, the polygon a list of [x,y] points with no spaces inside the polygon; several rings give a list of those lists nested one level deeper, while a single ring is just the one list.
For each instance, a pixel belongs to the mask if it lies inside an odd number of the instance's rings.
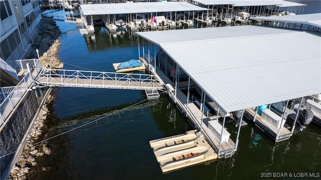
[{"label": "tan rocky shoreline along the foot of the building wall", "polygon": [[[57,56],[60,46],[60,34],[61,32],[54,21],[44,21],[44,30],[36,38],[35,44],[33,45],[35,48],[37,47],[39,54],[42,55],[40,57],[42,68],[57,69],[61,64]],[[52,153],[50,145],[37,143],[37,140],[42,134],[42,128],[46,125],[45,123],[49,113],[47,105],[53,99],[54,97],[49,95],[39,111],[33,128],[25,140],[23,151],[16,165],[11,169],[11,174],[8,179],[28,179],[29,169],[37,165],[37,158],[44,154],[50,155]],[[46,167],[42,167],[42,170],[46,170]]]}]

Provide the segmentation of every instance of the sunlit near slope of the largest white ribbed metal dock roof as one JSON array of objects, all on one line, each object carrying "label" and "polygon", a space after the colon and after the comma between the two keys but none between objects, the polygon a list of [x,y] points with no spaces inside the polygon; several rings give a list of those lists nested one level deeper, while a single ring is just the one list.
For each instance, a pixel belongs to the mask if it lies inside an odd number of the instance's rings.
[{"label": "sunlit near slope of the largest white ribbed metal dock roof", "polygon": [[240,36],[159,46],[224,112],[321,93],[320,36],[257,26],[213,28],[224,34],[222,29]]}]

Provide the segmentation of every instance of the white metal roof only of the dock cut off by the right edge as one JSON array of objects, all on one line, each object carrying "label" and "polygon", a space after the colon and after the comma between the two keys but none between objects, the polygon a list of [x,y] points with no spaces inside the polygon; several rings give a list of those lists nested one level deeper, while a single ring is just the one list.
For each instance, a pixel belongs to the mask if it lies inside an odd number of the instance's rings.
[{"label": "white metal roof only of the dock cut off by the right edge", "polygon": [[294,15],[294,16],[269,16],[269,17],[251,17],[251,20],[276,21],[287,23],[308,24],[321,28],[321,13]]}]

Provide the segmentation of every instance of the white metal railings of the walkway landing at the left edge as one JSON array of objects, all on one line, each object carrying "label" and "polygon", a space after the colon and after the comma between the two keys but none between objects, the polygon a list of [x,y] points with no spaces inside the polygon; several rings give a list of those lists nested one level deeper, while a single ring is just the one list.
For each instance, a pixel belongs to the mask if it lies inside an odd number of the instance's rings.
[{"label": "white metal railings of the walkway landing at the left edge", "polygon": [[[16,70],[27,70],[27,64],[30,69],[36,69],[37,74],[41,70],[40,61],[38,59],[25,59],[17,61],[7,61],[7,63]],[[0,104],[0,126],[4,124],[10,113],[15,109],[24,94],[30,90],[29,87],[32,84],[32,77],[28,73],[17,86],[3,87],[1,88],[1,99]]]}]

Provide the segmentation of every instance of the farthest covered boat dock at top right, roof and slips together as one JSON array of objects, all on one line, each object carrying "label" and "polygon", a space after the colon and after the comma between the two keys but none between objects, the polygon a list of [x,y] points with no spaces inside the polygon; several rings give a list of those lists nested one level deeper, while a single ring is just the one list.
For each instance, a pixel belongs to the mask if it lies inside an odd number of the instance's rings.
[{"label": "farthest covered boat dock at top right, roof and slips together", "polygon": [[[243,20],[250,16],[272,16],[283,14],[302,14],[306,5],[282,0],[240,1],[240,0],[191,0],[192,4],[209,9],[209,15],[220,20],[241,17]],[[240,13],[249,13],[242,17]]]}]

